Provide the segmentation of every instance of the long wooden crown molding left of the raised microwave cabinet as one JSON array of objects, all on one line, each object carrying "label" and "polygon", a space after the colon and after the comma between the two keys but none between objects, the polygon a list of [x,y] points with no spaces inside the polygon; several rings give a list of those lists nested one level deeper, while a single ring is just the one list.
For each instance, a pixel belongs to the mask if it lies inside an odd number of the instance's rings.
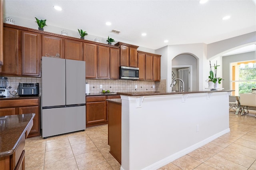
[{"label": "long wooden crown molding left of the raised microwave cabinet", "polygon": [[99,43],[99,42],[94,42],[94,41],[90,41],[90,40],[82,40],[80,38],[75,38],[75,37],[70,37],[70,36],[63,36],[60,34],[56,34],[56,33],[51,33],[51,32],[45,32],[45,31],[40,31],[40,30],[35,30],[32,28],[26,28],[26,27],[22,27],[22,26],[16,26],[16,25],[12,25],[12,24],[6,24],[4,23],[4,27],[8,27],[8,28],[16,28],[18,30],[24,30],[24,31],[30,31],[30,32],[35,32],[35,33],[39,33],[39,34],[43,34],[43,35],[48,35],[48,36],[56,36],[59,38],[65,38],[65,39],[69,39],[69,40],[76,40],[76,41],[81,41],[81,42],[87,42],[87,43],[94,43],[94,44],[98,44],[98,45],[104,45],[107,47],[113,47],[113,48],[119,48],[117,46],[114,45],[108,45],[105,43]]}]

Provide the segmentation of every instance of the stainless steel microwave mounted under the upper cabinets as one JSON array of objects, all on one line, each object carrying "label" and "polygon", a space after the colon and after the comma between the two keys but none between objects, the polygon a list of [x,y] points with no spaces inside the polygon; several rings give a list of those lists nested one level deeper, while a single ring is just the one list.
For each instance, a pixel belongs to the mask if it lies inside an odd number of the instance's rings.
[{"label": "stainless steel microwave mounted under the upper cabinets", "polygon": [[120,79],[139,79],[139,68],[120,66]]}]

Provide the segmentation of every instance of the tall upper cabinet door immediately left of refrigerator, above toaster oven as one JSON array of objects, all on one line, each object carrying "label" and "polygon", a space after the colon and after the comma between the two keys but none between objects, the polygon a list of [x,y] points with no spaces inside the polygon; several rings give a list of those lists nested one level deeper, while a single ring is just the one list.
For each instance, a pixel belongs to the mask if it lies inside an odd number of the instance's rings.
[{"label": "tall upper cabinet door immediately left of refrigerator, above toaster oven", "polygon": [[41,75],[40,34],[22,31],[22,75]]}]

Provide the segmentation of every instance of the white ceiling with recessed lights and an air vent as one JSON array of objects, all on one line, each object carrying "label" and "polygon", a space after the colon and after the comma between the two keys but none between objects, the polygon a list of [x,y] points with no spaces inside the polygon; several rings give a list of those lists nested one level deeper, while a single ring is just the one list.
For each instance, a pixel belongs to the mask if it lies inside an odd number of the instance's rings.
[{"label": "white ceiling with recessed lights and an air vent", "polygon": [[[56,5],[62,11],[54,10]],[[46,19],[47,25],[83,29],[150,49],[208,44],[256,31],[254,0],[209,0],[206,4],[199,0],[4,0],[4,15]],[[222,20],[227,15],[230,19]],[[112,29],[121,33],[110,33]]]}]

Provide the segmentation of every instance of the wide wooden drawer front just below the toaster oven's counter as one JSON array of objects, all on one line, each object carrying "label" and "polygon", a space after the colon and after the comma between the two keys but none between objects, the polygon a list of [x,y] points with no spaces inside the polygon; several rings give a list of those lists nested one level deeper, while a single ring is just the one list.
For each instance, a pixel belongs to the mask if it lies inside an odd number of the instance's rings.
[{"label": "wide wooden drawer front just below the toaster oven's counter", "polygon": [[38,106],[39,99],[15,99],[0,100],[0,106],[3,107],[22,107],[22,106]]}]

